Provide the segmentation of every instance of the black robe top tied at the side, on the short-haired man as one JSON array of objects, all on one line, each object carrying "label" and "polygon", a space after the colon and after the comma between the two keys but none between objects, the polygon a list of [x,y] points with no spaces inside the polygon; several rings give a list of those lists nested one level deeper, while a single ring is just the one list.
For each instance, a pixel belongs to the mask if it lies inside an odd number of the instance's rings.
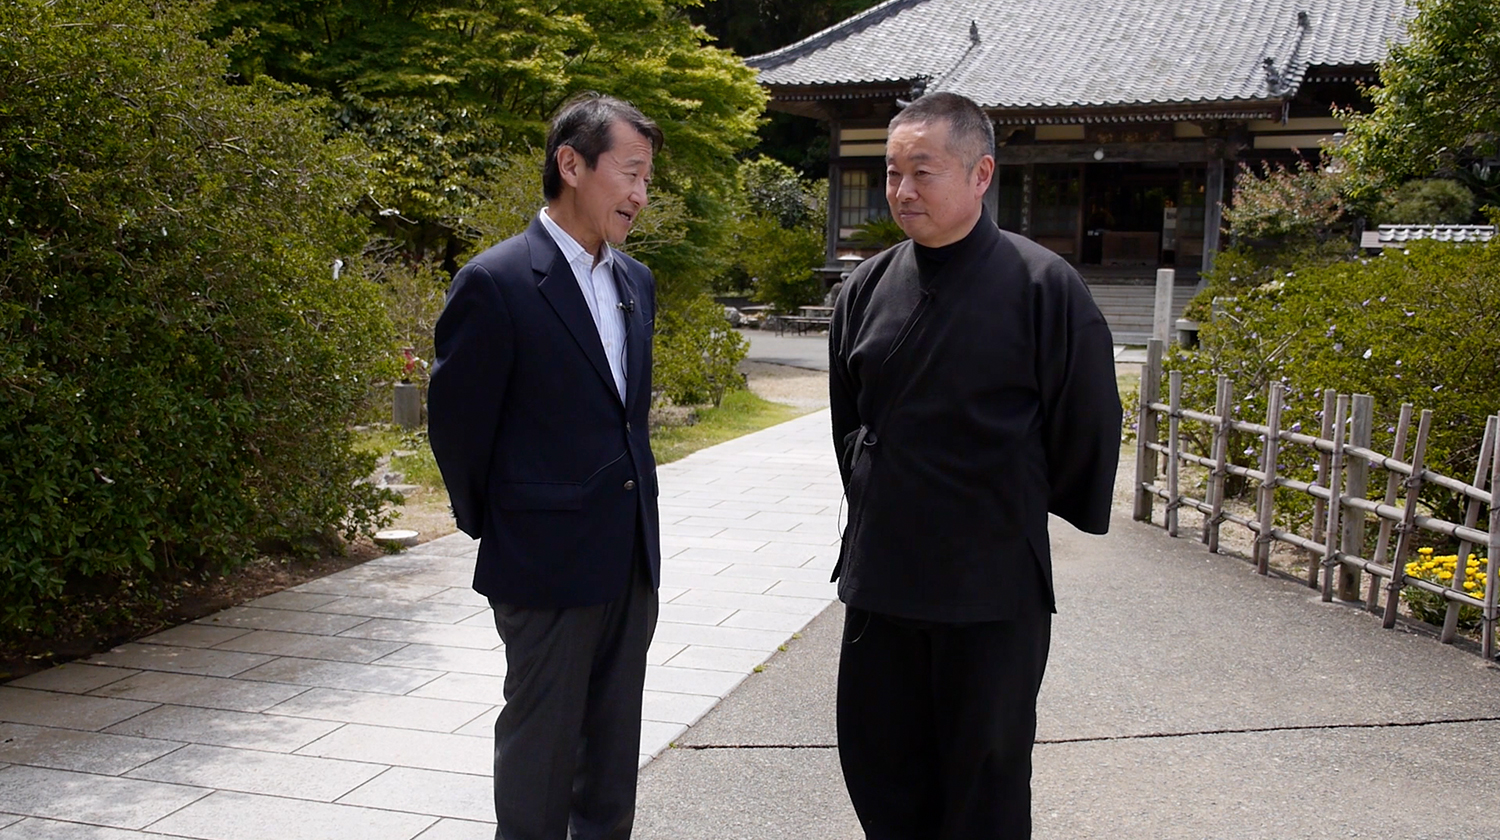
[{"label": "black robe top tied at the side, on the short-haired man", "polygon": [[1077,272],[988,213],[936,264],[860,264],[830,330],[849,606],[938,622],[1053,610],[1047,513],[1102,534],[1113,339]]}]

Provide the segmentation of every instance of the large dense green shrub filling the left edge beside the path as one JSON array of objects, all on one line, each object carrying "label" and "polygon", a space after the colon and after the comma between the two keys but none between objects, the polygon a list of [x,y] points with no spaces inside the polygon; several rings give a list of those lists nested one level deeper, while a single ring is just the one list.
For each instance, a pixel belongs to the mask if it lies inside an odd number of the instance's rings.
[{"label": "large dense green shrub filling the left edge beside the path", "polygon": [[[321,104],[230,86],[196,3],[0,4],[0,633],[369,531],[390,348]],[[147,586],[148,588],[148,586]]]}]

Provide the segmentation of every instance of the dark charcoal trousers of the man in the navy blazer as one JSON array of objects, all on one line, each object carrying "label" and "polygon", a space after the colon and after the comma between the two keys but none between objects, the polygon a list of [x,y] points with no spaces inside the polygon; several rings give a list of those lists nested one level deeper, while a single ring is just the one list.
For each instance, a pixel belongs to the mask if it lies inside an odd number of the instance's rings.
[{"label": "dark charcoal trousers of the man in the navy blazer", "polygon": [[644,555],[626,594],[606,604],[490,606],[507,663],[495,722],[495,838],[628,838],[657,621]]}]

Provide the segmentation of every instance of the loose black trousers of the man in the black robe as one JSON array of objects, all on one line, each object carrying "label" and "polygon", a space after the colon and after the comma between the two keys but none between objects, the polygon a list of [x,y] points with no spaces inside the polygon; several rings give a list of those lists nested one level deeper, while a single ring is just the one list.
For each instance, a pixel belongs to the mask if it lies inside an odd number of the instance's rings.
[{"label": "loose black trousers of the man in the black robe", "polygon": [[1052,615],[980,624],[844,612],[838,760],[870,840],[1030,837]]}]

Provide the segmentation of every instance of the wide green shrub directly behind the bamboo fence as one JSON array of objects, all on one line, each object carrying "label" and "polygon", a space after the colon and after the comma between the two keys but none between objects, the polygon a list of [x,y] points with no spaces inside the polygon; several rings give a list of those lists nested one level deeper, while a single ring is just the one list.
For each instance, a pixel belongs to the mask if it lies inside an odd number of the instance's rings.
[{"label": "wide green shrub directly behind the bamboo fence", "polygon": [[[1186,406],[1212,408],[1224,374],[1234,384],[1234,417],[1264,422],[1268,387],[1280,381],[1282,428],[1317,434],[1323,388],[1366,393],[1374,448],[1389,452],[1401,404],[1410,402],[1434,412],[1428,466],[1467,480],[1485,418],[1500,410],[1500,243],[1420,242],[1406,254],[1292,270],[1227,302],[1198,339],[1202,350],[1168,358],[1185,374]],[[1240,436],[1230,453],[1256,464],[1258,447]],[[1284,471],[1306,480],[1312,453],[1286,452]],[[1424,500],[1440,516],[1461,516],[1446,490]],[[1298,504],[1284,510],[1305,516]]]}]

